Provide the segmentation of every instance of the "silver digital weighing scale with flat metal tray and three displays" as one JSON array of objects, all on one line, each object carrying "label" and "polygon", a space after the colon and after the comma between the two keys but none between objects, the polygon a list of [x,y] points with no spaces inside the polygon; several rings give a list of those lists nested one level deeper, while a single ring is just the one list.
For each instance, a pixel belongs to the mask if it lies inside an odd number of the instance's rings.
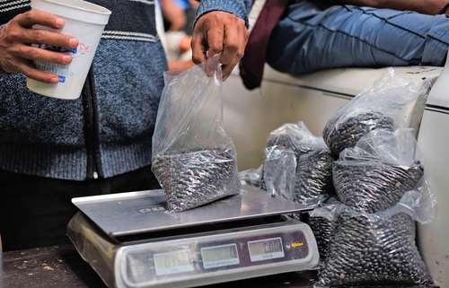
[{"label": "silver digital weighing scale with flat metal tray and three displays", "polygon": [[318,264],[310,210],[248,186],[183,213],[162,190],[74,198],[67,234],[110,288],[196,287],[309,270]]}]

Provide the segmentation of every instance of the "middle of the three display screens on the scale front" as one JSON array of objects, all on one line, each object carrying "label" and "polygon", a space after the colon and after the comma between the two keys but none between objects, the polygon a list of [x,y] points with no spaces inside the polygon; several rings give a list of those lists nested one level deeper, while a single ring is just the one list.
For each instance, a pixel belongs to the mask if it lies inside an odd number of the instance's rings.
[{"label": "middle of the three display screens on the scale front", "polygon": [[201,257],[205,269],[240,264],[239,252],[235,244],[202,248]]}]

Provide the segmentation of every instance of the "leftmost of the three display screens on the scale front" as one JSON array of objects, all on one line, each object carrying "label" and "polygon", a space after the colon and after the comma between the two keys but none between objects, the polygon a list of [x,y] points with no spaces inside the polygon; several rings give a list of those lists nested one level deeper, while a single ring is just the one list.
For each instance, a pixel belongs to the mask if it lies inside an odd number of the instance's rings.
[{"label": "leftmost of the three display screens on the scale front", "polygon": [[154,254],[156,275],[172,275],[194,271],[189,249]]}]

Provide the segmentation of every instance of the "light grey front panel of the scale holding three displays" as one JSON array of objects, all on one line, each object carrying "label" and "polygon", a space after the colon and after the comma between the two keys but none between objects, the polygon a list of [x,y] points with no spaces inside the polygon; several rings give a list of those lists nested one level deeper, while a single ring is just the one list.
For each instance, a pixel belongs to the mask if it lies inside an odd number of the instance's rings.
[{"label": "light grey front panel of the scale holding three displays", "polygon": [[123,287],[189,287],[307,270],[318,258],[309,226],[293,222],[127,246],[115,269]]}]

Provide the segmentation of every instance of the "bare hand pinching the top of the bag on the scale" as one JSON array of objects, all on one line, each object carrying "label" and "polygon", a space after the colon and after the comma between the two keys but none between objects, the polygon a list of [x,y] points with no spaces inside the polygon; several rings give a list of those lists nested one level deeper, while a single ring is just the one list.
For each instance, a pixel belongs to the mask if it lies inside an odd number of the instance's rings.
[{"label": "bare hand pinching the top of the bag on the scale", "polygon": [[207,57],[221,54],[226,80],[243,57],[247,40],[248,31],[241,18],[221,11],[206,13],[195,24],[191,44],[193,62],[204,63]]}]

